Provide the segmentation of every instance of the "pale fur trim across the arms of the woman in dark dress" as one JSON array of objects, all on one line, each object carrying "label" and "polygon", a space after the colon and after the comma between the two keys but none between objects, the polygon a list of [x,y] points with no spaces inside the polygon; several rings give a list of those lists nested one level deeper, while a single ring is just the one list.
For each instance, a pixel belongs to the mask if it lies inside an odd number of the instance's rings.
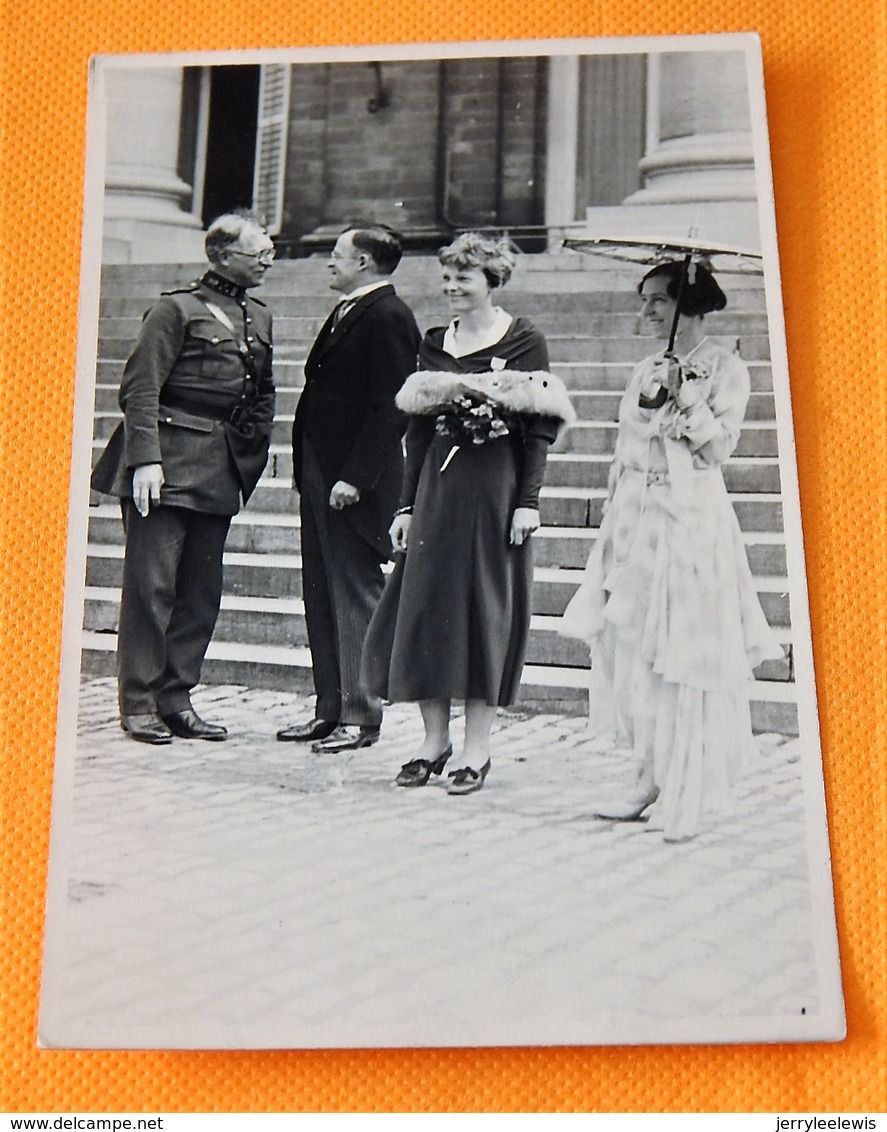
[{"label": "pale fur trim across the arms of the woman in dark dress", "polygon": [[420,369],[404,381],[395,403],[410,417],[430,417],[471,393],[522,417],[553,417],[561,424],[576,419],[563,381],[544,369],[496,369],[483,374]]}]

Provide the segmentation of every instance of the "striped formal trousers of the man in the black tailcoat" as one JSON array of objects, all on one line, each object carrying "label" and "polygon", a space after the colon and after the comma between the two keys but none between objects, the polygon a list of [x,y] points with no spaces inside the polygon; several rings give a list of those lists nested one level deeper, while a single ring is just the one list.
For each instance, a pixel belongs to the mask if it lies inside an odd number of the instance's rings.
[{"label": "striped formal trousers of the man in the black tailcoat", "polygon": [[378,727],[382,702],[363,689],[360,660],[385,585],[382,559],[354,530],[346,511],[329,506],[329,489],[305,449],[300,499],[302,595],[317,694],[315,714]]}]

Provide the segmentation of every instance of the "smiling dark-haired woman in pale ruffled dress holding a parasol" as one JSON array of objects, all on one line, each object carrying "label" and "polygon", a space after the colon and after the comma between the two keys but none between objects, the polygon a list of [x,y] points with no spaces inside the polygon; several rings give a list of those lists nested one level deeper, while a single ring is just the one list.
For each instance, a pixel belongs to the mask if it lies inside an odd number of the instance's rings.
[{"label": "smiling dark-haired woman in pale ruffled dress holding a parasol", "polygon": [[634,762],[602,817],[683,840],[730,803],[752,744],[751,670],[783,655],[760,608],[721,468],[750,392],[737,354],[706,336],[726,306],[690,257],[654,266],[641,316],[669,348],[645,358],[620,403],[604,518],[561,632],[592,651],[593,728]]}]

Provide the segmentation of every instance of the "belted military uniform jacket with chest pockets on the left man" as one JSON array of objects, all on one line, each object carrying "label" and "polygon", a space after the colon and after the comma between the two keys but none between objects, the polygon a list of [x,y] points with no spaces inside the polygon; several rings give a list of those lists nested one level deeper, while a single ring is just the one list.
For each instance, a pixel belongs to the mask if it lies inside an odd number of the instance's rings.
[{"label": "belted military uniform jacket with chest pockets on the left man", "polygon": [[272,318],[208,273],[147,311],[120,385],[123,423],[92,486],[131,496],[132,471],[161,464],[161,503],[233,515],[268,458],[274,421]]}]

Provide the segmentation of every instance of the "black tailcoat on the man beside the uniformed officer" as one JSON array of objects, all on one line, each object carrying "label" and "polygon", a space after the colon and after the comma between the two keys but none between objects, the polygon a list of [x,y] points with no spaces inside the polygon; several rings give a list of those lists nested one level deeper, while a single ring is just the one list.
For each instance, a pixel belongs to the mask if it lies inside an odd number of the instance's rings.
[{"label": "black tailcoat on the man beside the uniformed officer", "polygon": [[421,335],[390,284],[358,299],[333,329],[333,316],[305,361],[305,384],[293,421],[293,473],[301,490],[310,446],[329,494],[337,480],[361,489],[343,515],[381,555],[403,475],[406,418],[394,398],[416,368]]}]

